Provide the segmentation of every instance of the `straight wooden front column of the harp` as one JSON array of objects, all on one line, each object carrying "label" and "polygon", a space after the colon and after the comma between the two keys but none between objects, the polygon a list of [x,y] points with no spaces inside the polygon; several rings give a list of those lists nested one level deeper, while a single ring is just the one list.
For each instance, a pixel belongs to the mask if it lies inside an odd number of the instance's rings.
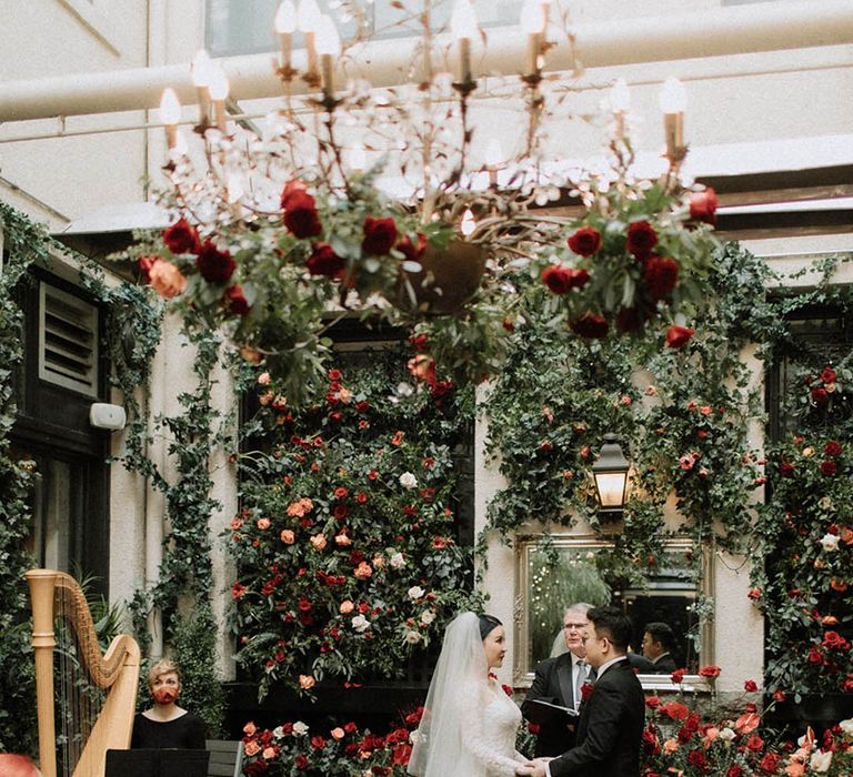
[{"label": "straight wooden front column of the harp", "polygon": [[57,777],[53,725],[53,589],[57,573],[30,569],[27,574],[32,599],[32,649],[36,656],[36,696],[39,709],[39,766],[42,777]]}]

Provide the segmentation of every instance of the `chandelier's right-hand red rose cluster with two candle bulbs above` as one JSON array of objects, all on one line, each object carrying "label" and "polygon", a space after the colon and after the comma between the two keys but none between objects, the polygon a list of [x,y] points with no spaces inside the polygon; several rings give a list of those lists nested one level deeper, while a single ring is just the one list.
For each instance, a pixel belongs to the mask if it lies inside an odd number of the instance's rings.
[{"label": "chandelier's right-hand red rose cluster with two candle bulbs above", "polygon": [[634,150],[624,131],[626,88],[623,82],[613,87],[611,168],[576,184],[572,194],[583,214],[570,225],[564,245],[541,254],[541,280],[553,294],[550,304],[581,337],[660,326],[666,345],[681,347],[710,304],[708,281],[720,246],[713,234],[717,199],[713,189],[684,189],[679,180],[686,155],[682,90],[674,80],[664,84],[669,170],[652,180],[632,173]]}]

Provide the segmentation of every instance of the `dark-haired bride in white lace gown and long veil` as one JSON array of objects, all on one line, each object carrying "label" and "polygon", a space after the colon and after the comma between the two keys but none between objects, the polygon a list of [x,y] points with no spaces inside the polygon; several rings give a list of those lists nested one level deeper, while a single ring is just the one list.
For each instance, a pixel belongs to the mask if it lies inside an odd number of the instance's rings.
[{"label": "dark-haired bride in white lace gown and long veil", "polygon": [[515,750],[521,710],[489,676],[505,654],[506,635],[498,618],[462,613],[450,623],[414,735],[410,775],[532,774],[529,759]]}]

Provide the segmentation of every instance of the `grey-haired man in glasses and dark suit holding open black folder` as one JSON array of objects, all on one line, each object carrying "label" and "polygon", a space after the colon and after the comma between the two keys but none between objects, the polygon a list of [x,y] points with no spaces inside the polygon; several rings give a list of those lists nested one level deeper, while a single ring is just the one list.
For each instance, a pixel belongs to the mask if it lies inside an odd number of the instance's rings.
[{"label": "grey-haired man in glasses and dark suit holding open black folder", "polygon": [[591,672],[586,663],[586,650],[583,647],[583,634],[590,626],[586,613],[591,608],[592,605],[584,603],[565,608],[563,636],[569,652],[545,658],[536,666],[533,685],[521,705],[522,715],[539,726],[536,757],[558,756],[574,746],[582,688],[595,678],[594,670]]}]

